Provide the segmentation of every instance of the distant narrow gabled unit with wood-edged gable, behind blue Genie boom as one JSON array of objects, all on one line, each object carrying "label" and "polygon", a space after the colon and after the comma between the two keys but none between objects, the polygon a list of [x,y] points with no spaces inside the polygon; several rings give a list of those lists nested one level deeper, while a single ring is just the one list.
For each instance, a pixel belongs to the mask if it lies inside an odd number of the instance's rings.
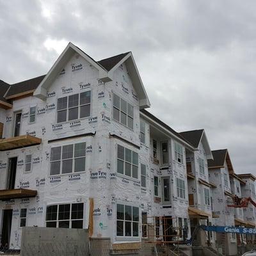
[{"label": "distant narrow gabled unit with wood-edged gable, behind blue Genie boom", "polygon": [[[227,149],[213,150],[212,156],[213,160],[208,161],[209,180],[216,184],[216,188],[212,188],[212,204],[214,213],[220,216],[214,224],[235,226],[234,209],[228,207],[228,202],[232,204],[234,197],[230,186],[230,174],[234,173],[230,156]],[[216,234],[216,247],[225,255],[236,255],[236,234]]]}]

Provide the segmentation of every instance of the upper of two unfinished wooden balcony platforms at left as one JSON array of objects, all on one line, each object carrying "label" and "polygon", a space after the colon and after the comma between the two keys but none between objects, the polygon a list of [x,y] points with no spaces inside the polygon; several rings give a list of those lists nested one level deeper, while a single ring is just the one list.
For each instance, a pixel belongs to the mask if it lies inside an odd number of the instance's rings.
[{"label": "upper of two unfinished wooden balcony platforms at left", "polygon": [[21,135],[0,140],[0,151],[29,147],[33,145],[38,145],[41,142],[42,140],[40,138],[36,138],[30,135]]}]

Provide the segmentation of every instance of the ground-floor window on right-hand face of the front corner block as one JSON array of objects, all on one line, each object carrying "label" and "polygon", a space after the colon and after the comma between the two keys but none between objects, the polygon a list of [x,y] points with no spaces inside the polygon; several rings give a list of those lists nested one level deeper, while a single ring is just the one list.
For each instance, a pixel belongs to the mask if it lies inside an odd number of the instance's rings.
[{"label": "ground-floor window on right-hand face of the front corner block", "polygon": [[116,204],[116,236],[139,236],[139,207]]}]

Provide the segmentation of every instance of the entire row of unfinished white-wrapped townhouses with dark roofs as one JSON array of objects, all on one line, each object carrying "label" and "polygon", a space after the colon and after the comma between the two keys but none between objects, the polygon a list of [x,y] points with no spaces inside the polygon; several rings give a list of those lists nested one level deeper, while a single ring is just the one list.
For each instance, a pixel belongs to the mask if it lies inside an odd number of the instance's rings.
[{"label": "entire row of unfinished white-wrapped townhouses with dark roofs", "polygon": [[[204,130],[178,133],[146,110],[131,52],[95,61],[69,43],[45,76],[0,86],[2,245],[19,249],[22,227],[38,226],[218,248],[198,225],[255,225],[255,209],[226,202],[240,185],[255,198],[254,176],[236,175],[228,153],[214,164]],[[221,239],[232,255],[236,237]]]}]

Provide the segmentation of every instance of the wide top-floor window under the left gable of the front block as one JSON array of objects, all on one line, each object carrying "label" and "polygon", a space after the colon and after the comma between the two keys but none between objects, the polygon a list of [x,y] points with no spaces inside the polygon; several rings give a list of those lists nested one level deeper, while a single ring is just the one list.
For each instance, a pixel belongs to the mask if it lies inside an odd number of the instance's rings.
[{"label": "wide top-floor window under the left gable of the front block", "polygon": [[57,123],[90,116],[91,91],[62,97],[57,102]]}]

